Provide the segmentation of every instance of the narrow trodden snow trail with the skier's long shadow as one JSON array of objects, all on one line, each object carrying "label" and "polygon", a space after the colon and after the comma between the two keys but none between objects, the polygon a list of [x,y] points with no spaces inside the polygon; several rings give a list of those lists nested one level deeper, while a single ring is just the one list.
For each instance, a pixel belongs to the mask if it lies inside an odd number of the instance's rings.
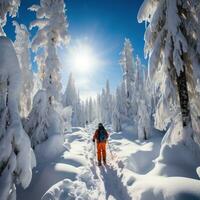
[{"label": "narrow trodden snow trail with the skier's long shadow", "polygon": [[[94,130],[87,128],[88,140],[86,141],[86,152],[90,152],[86,159],[90,160],[90,169],[93,176],[100,182],[99,191],[104,194],[103,199],[116,199],[116,200],[129,200],[127,188],[122,183],[122,177],[120,177],[118,171],[123,167],[120,165],[120,161],[111,152],[113,149],[109,149],[107,145],[107,165],[97,166],[96,162],[96,145],[91,142],[90,132]],[[98,189],[98,188],[97,188]]]}]

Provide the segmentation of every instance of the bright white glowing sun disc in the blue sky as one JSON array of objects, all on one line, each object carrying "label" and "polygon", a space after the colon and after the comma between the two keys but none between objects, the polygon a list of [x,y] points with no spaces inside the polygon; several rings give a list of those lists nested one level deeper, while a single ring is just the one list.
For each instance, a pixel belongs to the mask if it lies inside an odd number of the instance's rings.
[{"label": "bright white glowing sun disc in the blue sky", "polygon": [[93,49],[84,43],[75,46],[70,53],[71,67],[78,72],[90,72],[97,65]]}]

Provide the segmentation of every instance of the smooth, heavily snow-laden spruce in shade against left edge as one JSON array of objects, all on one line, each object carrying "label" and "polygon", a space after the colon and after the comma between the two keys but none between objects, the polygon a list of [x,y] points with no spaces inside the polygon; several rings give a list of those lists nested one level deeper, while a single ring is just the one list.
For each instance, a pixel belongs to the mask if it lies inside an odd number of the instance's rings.
[{"label": "smooth, heavily snow-laden spruce in shade against left edge", "polygon": [[15,184],[28,187],[35,156],[19,116],[21,71],[12,42],[0,37],[0,197],[16,199]]}]

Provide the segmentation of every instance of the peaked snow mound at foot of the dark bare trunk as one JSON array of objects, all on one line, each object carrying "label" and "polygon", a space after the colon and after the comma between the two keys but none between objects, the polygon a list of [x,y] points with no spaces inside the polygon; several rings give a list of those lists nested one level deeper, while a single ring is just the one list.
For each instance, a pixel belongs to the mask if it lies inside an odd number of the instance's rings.
[{"label": "peaked snow mound at foot of the dark bare trunk", "polygon": [[162,140],[160,155],[150,174],[198,179],[196,173],[196,168],[200,166],[198,152],[199,146],[190,137],[190,130],[184,131],[180,121],[172,124]]}]

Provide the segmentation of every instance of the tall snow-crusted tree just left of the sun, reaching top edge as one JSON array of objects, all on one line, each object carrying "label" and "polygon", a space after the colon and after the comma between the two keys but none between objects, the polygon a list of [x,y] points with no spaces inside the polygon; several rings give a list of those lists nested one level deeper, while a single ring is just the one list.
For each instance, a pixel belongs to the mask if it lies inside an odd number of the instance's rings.
[{"label": "tall snow-crusted tree just left of the sun, reaching top edge", "polygon": [[63,0],[41,0],[39,6],[33,5],[30,10],[35,11],[37,17],[30,28],[38,27],[32,40],[32,49],[36,53],[35,61],[39,66],[43,89],[34,97],[33,108],[25,127],[31,137],[32,146],[36,147],[53,135],[60,135],[63,139],[57,48],[68,42],[68,24]]}]

